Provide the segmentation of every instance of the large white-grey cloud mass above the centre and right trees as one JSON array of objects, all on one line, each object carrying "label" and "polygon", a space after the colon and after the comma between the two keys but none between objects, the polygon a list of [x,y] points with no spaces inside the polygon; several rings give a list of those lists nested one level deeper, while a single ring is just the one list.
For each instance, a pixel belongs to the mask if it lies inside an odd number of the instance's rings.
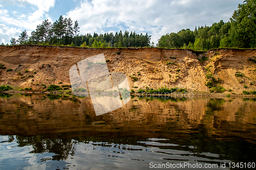
[{"label": "large white-grey cloud mass above the centre and right trees", "polygon": [[[82,1],[65,17],[78,20],[80,34],[119,31],[126,27],[128,31],[148,32],[152,40],[166,33],[181,29],[195,29],[198,25],[211,26],[221,19],[228,21],[233,11],[243,0],[175,0],[175,1]],[[124,30],[122,30],[124,31]]]}]

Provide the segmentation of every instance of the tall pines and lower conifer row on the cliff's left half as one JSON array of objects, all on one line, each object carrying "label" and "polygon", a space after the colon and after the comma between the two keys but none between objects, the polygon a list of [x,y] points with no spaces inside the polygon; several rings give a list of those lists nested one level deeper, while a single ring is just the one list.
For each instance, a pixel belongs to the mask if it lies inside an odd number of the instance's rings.
[{"label": "tall pines and lower conifer row on the cliff's left half", "polygon": [[63,18],[61,15],[58,20],[51,23],[48,19],[44,20],[36,27],[36,30],[29,37],[26,30],[23,31],[18,40],[11,39],[11,45],[15,44],[42,44],[42,45],[69,45],[81,47],[148,47],[150,46],[151,36],[129,33],[105,33],[93,35],[79,35],[78,21],[73,25],[71,18]]}]

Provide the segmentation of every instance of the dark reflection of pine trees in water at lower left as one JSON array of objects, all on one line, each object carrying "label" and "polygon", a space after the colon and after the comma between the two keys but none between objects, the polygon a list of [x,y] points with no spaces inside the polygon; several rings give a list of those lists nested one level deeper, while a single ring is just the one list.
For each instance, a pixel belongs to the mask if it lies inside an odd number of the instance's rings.
[{"label": "dark reflection of pine trees in water at lower left", "polygon": [[72,139],[49,139],[42,135],[22,137],[16,136],[18,147],[31,145],[33,151],[30,153],[54,153],[52,160],[66,160],[69,155],[75,155],[75,143]]}]

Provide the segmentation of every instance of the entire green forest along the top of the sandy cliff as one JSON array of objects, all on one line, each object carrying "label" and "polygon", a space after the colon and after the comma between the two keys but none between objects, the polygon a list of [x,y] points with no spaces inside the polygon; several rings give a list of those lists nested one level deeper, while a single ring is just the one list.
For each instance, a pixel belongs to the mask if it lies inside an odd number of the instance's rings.
[{"label": "entire green forest along the top of the sandy cliff", "polygon": [[[198,26],[194,31],[183,29],[177,33],[167,33],[151,43],[151,35],[125,31],[115,34],[94,33],[79,35],[78,21],[73,25],[71,18],[59,17],[54,23],[44,20],[29,37],[26,30],[15,44],[68,45],[80,47],[159,47],[186,48],[205,51],[214,48],[254,48],[256,47],[256,6],[254,0],[246,0],[238,5],[228,22],[221,20],[212,26]],[[3,44],[2,44],[3,45]]]}]

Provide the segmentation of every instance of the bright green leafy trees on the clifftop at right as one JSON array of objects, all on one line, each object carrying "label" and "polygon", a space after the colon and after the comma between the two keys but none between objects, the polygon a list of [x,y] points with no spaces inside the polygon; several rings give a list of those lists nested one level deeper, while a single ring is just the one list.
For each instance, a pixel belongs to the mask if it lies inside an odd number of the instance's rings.
[{"label": "bright green leafy trees on the clifftop at right", "polygon": [[238,5],[228,22],[213,23],[211,27],[199,26],[194,31],[181,30],[161,36],[160,48],[189,48],[210,50],[218,47],[256,47],[256,6],[255,1],[246,0]]}]

